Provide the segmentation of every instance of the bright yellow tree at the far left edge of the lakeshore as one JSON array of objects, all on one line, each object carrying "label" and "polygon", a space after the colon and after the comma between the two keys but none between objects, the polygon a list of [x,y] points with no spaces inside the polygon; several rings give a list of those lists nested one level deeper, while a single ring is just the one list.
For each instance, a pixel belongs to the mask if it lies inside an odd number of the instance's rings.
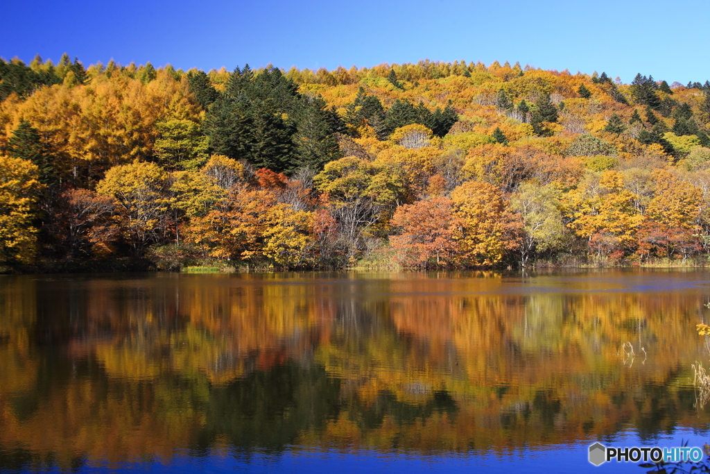
[{"label": "bright yellow tree at the far left edge of the lakeshore", "polygon": [[32,221],[42,188],[38,176],[30,161],[0,155],[0,264],[33,262],[37,229]]}]

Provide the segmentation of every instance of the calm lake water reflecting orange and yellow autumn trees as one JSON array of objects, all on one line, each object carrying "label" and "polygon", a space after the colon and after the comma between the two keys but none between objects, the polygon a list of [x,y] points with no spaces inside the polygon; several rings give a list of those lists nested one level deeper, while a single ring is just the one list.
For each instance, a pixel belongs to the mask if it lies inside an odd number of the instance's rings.
[{"label": "calm lake water reflecting orange and yellow autumn trees", "polygon": [[710,441],[709,299],[705,271],[0,276],[0,471],[643,473],[587,447]]}]

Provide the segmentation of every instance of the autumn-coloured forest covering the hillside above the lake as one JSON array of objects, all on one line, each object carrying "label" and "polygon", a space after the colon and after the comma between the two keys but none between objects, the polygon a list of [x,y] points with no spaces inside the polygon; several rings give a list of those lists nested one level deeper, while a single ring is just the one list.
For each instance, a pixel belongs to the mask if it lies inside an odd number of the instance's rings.
[{"label": "autumn-coloured forest covering the hillside above the lake", "polygon": [[0,60],[0,269],[701,264],[710,82]]}]

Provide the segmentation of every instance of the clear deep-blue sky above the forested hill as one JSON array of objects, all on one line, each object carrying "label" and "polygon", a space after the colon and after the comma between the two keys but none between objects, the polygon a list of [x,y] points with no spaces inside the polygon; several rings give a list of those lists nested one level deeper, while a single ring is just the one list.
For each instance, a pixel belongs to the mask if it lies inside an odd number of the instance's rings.
[{"label": "clear deep-blue sky above the forested hill", "polygon": [[417,60],[710,79],[710,1],[6,1],[0,56],[209,70]]}]

